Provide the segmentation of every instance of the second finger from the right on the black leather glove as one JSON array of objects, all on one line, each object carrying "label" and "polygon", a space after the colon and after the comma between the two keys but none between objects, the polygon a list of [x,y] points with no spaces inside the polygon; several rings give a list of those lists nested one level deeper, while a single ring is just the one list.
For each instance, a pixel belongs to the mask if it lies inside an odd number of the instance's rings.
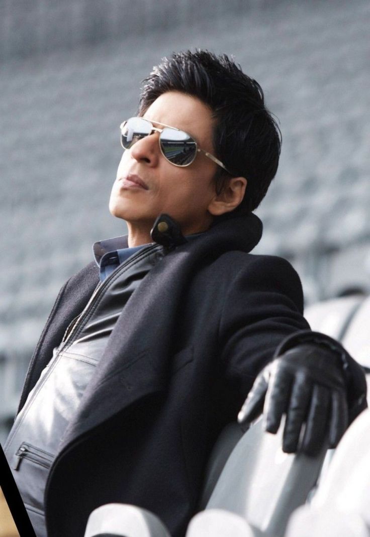
[{"label": "second finger from the right on the black leather glove", "polygon": [[324,444],[330,412],[330,390],[315,384],[305,426],[301,451],[317,455]]}]

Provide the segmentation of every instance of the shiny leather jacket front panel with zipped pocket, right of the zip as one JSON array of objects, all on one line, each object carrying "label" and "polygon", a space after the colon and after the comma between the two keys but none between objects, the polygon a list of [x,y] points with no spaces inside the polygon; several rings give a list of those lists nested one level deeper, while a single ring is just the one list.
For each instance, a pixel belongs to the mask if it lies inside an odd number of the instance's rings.
[{"label": "shiny leather jacket front panel with zipped pocket, right of the zip", "polygon": [[46,537],[44,491],[63,434],[123,307],[163,252],[158,244],[147,246],[97,288],[13,424],[4,451],[38,537]]}]

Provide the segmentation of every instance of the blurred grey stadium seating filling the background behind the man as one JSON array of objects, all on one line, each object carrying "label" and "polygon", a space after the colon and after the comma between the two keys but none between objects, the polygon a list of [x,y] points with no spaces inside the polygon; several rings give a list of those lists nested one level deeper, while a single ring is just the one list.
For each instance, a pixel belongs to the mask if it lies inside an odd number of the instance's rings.
[{"label": "blurred grey stadium seating filling the background behind the man", "polygon": [[278,174],[258,253],[281,255],[310,304],[367,293],[368,0],[0,0],[0,440],[63,282],[108,211],[119,124],[174,50],[233,55],[279,118]]}]

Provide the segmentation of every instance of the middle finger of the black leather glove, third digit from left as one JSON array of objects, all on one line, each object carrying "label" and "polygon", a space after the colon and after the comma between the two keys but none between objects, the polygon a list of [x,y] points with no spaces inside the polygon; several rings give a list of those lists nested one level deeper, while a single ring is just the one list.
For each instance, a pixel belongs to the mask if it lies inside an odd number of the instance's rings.
[{"label": "middle finger of the black leather glove, third digit from left", "polygon": [[283,451],[295,453],[303,422],[307,420],[311,402],[312,384],[304,373],[298,372],[291,390],[289,408],[284,426]]}]

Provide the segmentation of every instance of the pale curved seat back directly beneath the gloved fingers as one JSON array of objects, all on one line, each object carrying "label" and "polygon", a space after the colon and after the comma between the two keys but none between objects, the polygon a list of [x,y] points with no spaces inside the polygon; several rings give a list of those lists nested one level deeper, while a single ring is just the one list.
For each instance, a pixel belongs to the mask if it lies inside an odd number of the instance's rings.
[{"label": "pale curved seat back directly beneath the gloved fingers", "polygon": [[[284,534],[288,518],[316,484],[326,449],[316,457],[283,453],[278,434],[266,433],[260,418],[227,459],[206,509],[239,514],[255,535]],[[216,444],[216,451],[219,446]]]}]

